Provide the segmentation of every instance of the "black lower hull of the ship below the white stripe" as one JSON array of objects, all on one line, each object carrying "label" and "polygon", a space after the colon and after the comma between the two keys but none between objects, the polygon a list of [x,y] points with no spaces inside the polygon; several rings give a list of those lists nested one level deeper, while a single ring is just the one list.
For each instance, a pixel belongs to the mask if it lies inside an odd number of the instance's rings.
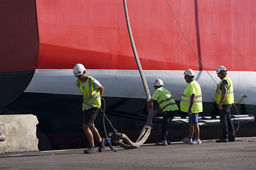
[{"label": "black lower hull of the ship below the white stripe", "polygon": [[[106,115],[113,126],[132,141],[136,141],[140,130],[146,123],[147,111],[144,99],[109,98],[106,101]],[[82,131],[82,112],[80,95],[45,94],[45,93],[22,93],[14,102],[0,109],[0,114],[33,114],[37,116],[38,148],[44,150],[86,148],[89,143]],[[179,102],[178,102],[179,104]],[[157,106],[155,106],[157,107]],[[218,115],[216,107],[212,103],[203,104],[205,112],[201,116]],[[256,115],[256,106],[238,105],[240,114]],[[237,114],[232,107],[232,114]],[[185,116],[183,112],[176,116]],[[102,113],[99,113],[95,126],[102,137]],[[154,143],[161,139],[161,123],[153,119],[153,129],[146,143]],[[238,124],[234,124],[237,128]],[[110,132],[111,127],[106,122],[106,129]],[[187,124],[170,124],[171,141],[180,141],[188,134]],[[236,133],[237,137],[255,136],[256,122],[242,123]],[[8,135],[8,134],[7,134]],[[200,126],[200,138],[216,139],[221,135],[221,126]],[[97,146],[97,142],[95,142]]]}]

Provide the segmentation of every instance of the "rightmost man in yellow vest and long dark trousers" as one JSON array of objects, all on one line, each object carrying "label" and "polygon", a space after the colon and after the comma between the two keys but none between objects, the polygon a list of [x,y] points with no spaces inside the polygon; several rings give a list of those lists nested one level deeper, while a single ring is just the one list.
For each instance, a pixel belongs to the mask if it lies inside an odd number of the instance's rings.
[{"label": "rightmost man in yellow vest and long dark trousers", "polygon": [[215,100],[218,105],[222,126],[222,136],[216,142],[236,141],[236,134],[230,115],[230,109],[234,103],[233,83],[230,77],[227,76],[227,69],[224,66],[219,66],[216,73],[221,79],[215,92]]}]

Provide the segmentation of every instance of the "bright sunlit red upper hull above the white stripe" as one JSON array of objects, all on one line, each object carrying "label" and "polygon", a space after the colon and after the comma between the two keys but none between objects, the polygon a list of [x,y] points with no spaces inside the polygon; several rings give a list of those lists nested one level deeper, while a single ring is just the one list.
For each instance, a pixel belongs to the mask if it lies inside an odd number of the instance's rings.
[{"label": "bright sunlit red upper hull above the white stripe", "polygon": [[[208,70],[255,71],[254,1],[168,1]],[[36,1],[37,69],[137,70],[119,1]],[[166,1],[128,1],[132,31],[145,70],[203,70]]]}]

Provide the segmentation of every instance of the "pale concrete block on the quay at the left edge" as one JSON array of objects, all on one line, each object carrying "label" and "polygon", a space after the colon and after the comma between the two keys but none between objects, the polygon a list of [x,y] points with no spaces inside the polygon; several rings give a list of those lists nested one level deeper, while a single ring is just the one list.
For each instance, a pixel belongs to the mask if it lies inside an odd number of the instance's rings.
[{"label": "pale concrete block on the quay at the left edge", "polygon": [[0,153],[38,151],[37,124],[32,114],[0,115],[0,133],[6,135],[0,142]]}]

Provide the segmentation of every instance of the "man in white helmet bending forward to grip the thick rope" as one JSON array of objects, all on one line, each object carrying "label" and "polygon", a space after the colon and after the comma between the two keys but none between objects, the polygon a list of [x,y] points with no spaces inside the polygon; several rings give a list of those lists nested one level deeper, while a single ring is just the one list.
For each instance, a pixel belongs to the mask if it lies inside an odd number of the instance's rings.
[{"label": "man in white helmet bending forward to grip the thick rope", "polygon": [[156,142],[157,145],[168,145],[170,144],[169,140],[169,123],[172,122],[175,113],[178,112],[179,108],[173,99],[172,94],[165,88],[163,88],[163,81],[161,79],[156,79],[154,81],[155,92],[152,95],[152,98],[147,103],[147,111],[151,108],[152,103],[156,100],[158,102],[159,108],[153,112],[155,116],[158,112],[163,112],[162,119],[162,140]]}]

